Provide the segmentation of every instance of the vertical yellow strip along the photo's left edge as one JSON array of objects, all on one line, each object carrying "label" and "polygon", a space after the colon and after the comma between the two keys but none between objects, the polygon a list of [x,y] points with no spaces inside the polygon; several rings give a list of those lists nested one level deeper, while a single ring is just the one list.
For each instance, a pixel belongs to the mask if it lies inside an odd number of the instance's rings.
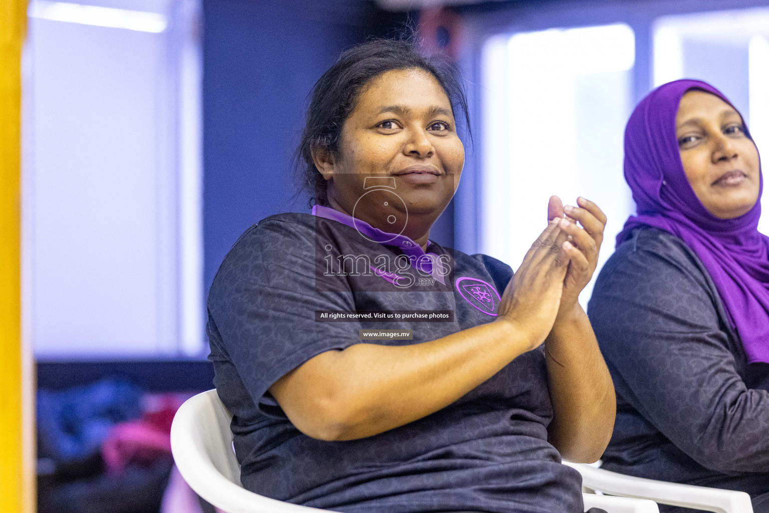
[{"label": "vertical yellow strip along the photo's left edge", "polygon": [[[32,376],[22,368],[21,56],[25,0],[0,0],[0,511],[32,513],[34,464],[25,461],[22,396]],[[26,409],[26,408],[24,408]]]}]

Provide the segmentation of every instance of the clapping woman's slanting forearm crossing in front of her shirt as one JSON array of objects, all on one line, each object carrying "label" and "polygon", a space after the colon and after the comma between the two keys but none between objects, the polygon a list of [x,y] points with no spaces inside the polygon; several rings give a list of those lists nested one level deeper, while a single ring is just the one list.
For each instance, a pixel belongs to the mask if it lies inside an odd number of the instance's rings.
[{"label": "clapping woman's slanting forearm crossing in front of her shirt", "polygon": [[434,341],[356,344],[311,358],[270,388],[305,435],[352,440],[450,405],[541,340],[503,318]]}]

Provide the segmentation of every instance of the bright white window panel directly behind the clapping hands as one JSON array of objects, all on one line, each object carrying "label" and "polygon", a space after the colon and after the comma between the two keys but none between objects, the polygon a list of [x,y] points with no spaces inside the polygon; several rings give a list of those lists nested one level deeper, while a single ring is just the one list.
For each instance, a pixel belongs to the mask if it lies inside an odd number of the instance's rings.
[{"label": "bright white window panel directly behind the clapping hands", "polygon": [[[599,266],[634,210],[622,174],[635,39],[628,25],[496,36],[484,46],[481,251],[518,268],[551,195],[608,216]],[[596,272],[598,275],[598,271]],[[586,305],[592,282],[580,301]]]}]

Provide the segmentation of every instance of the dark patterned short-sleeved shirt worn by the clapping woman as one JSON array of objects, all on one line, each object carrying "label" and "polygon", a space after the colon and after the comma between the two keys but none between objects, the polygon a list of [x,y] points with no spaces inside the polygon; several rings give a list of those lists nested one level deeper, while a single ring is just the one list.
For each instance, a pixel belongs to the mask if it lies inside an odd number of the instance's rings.
[{"label": "dark patterned short-sleeved shirt worn by the clapping woman", "polygon": [[[448,407],[360,440],[303,435],[271,398],[278,378],[323,351],[361,342],[360,329],[410,329],[412,340],[372,341],[404,345],[493,321],[511,268],[434,243],[428,252],[448,258],[453,272],[444,284],[414,273],[414,284],[398,287],[366,275],[366,265],[355,275],[352,266],[366,261],[361,255],[394,261],[401,248],[341,222],[281,214],[241,236],[211,286],[208,335],[215,385],[234,415],[243,485],[281,501],[355,513],[582,511],[581,478],[548,443],[552,407],[540,350],[515,358]],[[348,259],[347,274],[322,272],[329,255],[338,261],[350,254],[361,258]],[[398,272],[408,271],[414,268]],[[316,311],[408,310],[451,311],[453,319],[316,318]]]}]

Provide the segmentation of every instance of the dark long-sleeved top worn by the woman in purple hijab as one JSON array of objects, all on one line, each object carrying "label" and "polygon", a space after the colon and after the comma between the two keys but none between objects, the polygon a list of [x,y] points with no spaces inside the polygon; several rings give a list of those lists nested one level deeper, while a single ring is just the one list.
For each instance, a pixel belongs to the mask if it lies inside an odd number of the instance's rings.
[{"label": "dark long-sleeved top worn by the woman in purple hijab", "polygon": [[588,315],[617,391],[604,468],[711,485],[766,473],[769,491],[769,365],[747,365],[710,275],[681,239],[633,232],[601,270]]}]

